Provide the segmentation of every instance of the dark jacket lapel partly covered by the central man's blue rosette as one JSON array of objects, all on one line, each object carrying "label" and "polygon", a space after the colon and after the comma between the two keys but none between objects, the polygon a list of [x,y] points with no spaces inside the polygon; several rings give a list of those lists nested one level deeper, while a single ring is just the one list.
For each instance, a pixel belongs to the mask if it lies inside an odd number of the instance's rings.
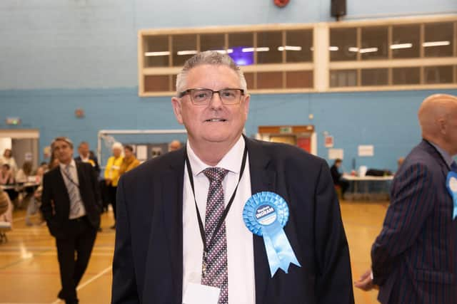
[{"label": "dark jacket lapel partly covered by the central man's blue rosette", "polygon": [[[249,155],[249,173],[251,174],[251,193],[271,191],[276,189],[276,172],[268,167],[271,159],[261,151],[261,146],[245,137]],[[256,278],[256,303],[265,303],[265,290],[270,278],[270,268],[266,256],[263,238],[253,236],[254,270]]]}]

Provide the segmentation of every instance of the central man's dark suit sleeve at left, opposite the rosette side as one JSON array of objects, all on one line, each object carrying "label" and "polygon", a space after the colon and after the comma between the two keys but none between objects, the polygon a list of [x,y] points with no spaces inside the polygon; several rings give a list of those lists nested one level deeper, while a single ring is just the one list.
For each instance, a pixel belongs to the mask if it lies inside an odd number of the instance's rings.
[{"label": "central man's dark suit sleeve at left, opposite the rosette side", "polygon": [[124,194],[124,179],[119,181],[116,203],[116,245],[114,246],[111,304],[140,303],[136,290],[129,214]]}]

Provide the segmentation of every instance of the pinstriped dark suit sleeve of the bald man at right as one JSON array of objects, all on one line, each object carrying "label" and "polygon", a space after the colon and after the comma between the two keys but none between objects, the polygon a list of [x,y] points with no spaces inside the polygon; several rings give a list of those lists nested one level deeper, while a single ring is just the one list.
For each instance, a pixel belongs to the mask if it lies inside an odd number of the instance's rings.
[{"label": "pinstriped dark suit sleeve of the bald man at right", "polygon": [[423,164],[403,168],[396,176],[383,229],[371,248],[373,283],[383,285],[398,257],[416,241],[433,211],[435,194],[433,176]]}]

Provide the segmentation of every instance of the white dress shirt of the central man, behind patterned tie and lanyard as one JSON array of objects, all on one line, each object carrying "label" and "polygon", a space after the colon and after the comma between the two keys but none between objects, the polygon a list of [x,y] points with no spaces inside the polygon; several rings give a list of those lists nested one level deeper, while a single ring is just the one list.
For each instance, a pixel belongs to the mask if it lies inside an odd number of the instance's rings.
[{"label": "white dress shirt of the central man, behind patterned tie and lanyard", "polygon": [[[222,182],[225,206],[229,203],[238,183],[244,146],[243,137],[240,137],[238,142],[215,166],[229,170]],[[202,171],[211,166],[208,166],[196,156],[189,141],[186,144],[186,148],[194,176],[197,206],[199,206],[201,221],[205,224],[209,179]],[[253,234],[246,228],[243,221],[243,207],[249,197],[251,197],[251,175],[249,174],[249,161],[247,158],[243,177],[225,220],[229,270],[229,304],[256,303]],[[192,194],[187,167],[185,167],[183,189],[183,295],[189,283],[201,283],[202,257],[203,243],[196,215],[194,195]]]}]

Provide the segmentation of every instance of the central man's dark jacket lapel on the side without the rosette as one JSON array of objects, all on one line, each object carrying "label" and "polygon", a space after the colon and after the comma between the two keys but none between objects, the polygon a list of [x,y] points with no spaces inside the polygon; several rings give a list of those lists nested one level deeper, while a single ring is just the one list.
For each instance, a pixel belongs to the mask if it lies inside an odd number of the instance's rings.
[{"label": "central man's dark jacket lapel on the side without the rosette", "polygon": [[184,150],[170,162],[169,170],[161,179],[162,209],[165,231],[168,234],[169,254],[174,273],[176,297],[182,302],[183,278],[183,184]]}]

